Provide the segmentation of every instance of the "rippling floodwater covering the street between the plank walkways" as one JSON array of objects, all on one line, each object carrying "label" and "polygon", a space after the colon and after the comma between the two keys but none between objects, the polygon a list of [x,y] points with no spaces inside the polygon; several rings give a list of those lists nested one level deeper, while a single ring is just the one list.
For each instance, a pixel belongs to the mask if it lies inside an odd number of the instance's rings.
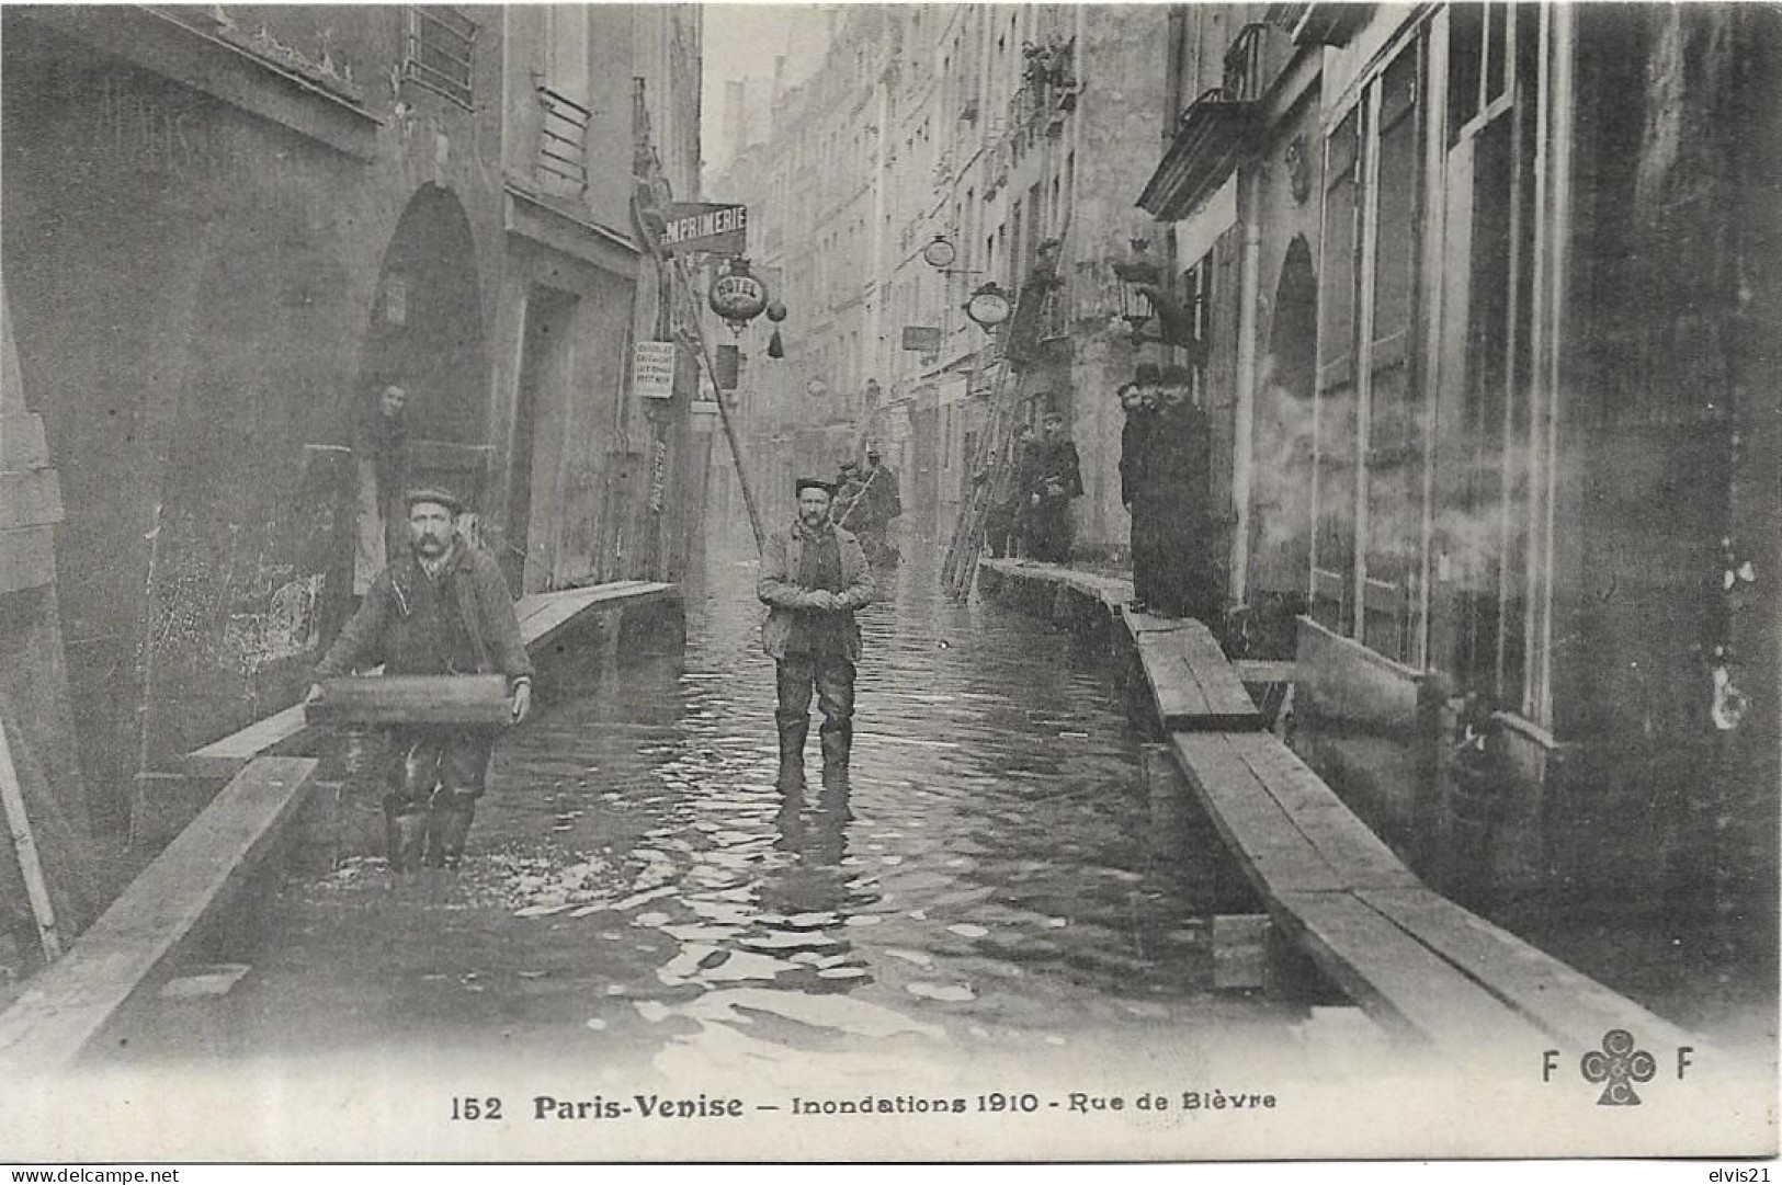
[{"label": "rippling floodwater covering the street between the plank walkways", "polygon": [[356,804],[364,855],[267,886],[205,952],[239,982],[144,993],[107,1060],[846,1080],[1294,1035],[1304,1005],[1214,989],[1212,916],[1256,907],[1205,818],[1148,793],[1110,663],[946,601],[932,558],[861,615],[848,784],[818,784],[813,723],[811,788],[775,789],[738,535],[690,590],[684,652],[631,656],[503,743],[460,875],[392,882]]}]

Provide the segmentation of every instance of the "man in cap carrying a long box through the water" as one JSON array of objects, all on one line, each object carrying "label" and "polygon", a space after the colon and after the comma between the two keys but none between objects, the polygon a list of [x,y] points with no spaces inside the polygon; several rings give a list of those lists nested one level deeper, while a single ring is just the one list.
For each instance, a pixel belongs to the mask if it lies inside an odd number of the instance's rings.
[{"label": "man in cap carrying a long box through the water", "polygon": [[[383,661],[387,675],[503,674],[513,699],[511,722],[533,700],[533,663],[520,638],[513,599],[495,560],[458,533],[463,513],[451,492],[412,490],[408,545],[371,583],[358,613],[321,665],[321,681]],[[456,868],[483,797],[492,732],[462,727],[392,729],[392,768],[383,797],[385,852],[392,871]]]}]

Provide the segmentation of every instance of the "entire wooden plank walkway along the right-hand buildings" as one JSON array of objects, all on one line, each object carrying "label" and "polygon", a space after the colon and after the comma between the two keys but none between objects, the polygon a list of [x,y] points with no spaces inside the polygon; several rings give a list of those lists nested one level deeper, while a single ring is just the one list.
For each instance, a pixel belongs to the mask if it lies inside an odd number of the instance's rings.
[{"label": "entire wooden plank walkway along the right-hand buildings", "polygon": [[[1082,583],[1053,565],[998,565],[1003,581]],[[1103,601],[1133,640],[1189,793],[1276,925],[1388,1034],[1449,1053],[1590,1050],[1609,1028],[1704,1048],[1700,1035],[1427,887],[1315,770],[1262,731],[1244,679],[1292,679],[1292,663],[1231,663],[1201,622]]]}]

